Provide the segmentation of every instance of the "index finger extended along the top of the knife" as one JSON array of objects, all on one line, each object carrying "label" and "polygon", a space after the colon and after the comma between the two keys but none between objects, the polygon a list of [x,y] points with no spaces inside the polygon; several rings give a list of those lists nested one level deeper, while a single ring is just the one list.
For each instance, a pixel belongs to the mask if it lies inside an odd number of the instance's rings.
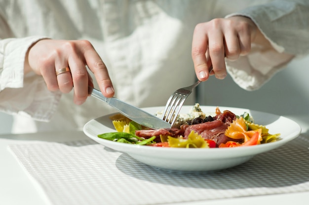
[{"label": "index finger extended along the top of the knife", "polygon": [[110,79],[107,67],[90,43],[84,50],[84,57],[86,60],[86,64],[93,72],[95,79],[98,82],[102,94],[105,97],[113,97],[115,94],[115,90]]}]

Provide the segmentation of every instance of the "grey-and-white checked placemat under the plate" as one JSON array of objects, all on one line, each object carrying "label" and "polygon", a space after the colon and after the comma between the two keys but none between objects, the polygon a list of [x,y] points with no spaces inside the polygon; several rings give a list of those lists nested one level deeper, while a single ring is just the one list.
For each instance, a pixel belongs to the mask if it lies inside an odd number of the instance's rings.
[{"label": "grey-and-white checked placemat under the plate", "polygon": [[10,145],[51,205],[159,205],[309,191],[309,140],[211,173],[158,170],[92,140]]}]

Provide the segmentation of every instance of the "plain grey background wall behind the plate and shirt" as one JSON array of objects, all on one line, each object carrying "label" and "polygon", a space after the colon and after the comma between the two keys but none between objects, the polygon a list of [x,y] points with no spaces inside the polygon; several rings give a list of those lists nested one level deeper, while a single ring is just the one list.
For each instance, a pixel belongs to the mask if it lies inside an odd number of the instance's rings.
[{"label": "plain grey background wall behind the plate and shirt", "polygon": [[[302,114],[309,119],[309,56],[293,60],[256,91],[238,87],[230,76],[225,80],[211,77],[197,88],[196,102],[201,105],[247,108],[282,116]],[[12,117],[0,113],[0,122],[0,134],[10,133]]]}]

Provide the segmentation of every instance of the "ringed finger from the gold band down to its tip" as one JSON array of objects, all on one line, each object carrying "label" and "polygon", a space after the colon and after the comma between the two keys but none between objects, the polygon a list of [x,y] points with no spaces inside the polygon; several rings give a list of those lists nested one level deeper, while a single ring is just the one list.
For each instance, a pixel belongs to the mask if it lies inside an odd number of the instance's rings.
[{"label": "ringed finger from the gold band down to its tip", "polygon": [[[73,88],[72,75],[68,63],[62,63],[62,66],[56,66],[60,69],[55,71],[57,76],[58,86],[61,92],[68,93]],[[64,66],[67,65],[67,66]]]}]

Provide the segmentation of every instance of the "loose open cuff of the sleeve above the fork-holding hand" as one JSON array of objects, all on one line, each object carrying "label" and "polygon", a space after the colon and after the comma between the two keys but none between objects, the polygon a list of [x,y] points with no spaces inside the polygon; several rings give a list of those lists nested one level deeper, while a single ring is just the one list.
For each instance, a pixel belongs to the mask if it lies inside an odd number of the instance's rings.
[{"label": "loose open cuff of the sleeve above the fork-holding hand", "polygon": [[[262,46],[252,44],[251,51],[247,56],[242,56],[236,61],[229,61],[226,59],[227,71],[239,87],[246,90],[259,89],[267,83],[273,75],[285,68],[285,65],[294,58],[294,55],[284,53],[285,48],[274,42],[264,32],[254,18],[254,10],[251,14],[239,12],[230,14],[226,16],[226,18],[232,16],[245,16],[250,18],[272,46],[272,48],[266,49]],[[260,19],[259,22],[260,21],[266,20]],[[266,28],[266,30],[267,29],[270,28]]]}]

